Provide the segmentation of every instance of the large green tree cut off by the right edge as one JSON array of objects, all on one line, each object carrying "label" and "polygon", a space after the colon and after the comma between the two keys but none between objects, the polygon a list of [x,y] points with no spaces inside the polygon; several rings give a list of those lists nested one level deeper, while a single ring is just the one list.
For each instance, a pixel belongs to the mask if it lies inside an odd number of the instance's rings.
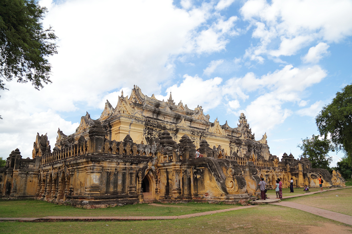
[{"label": "large green tree cut off by the right edge", "polygon": [[345,151],[352,166],[352,85],[337,92],[332,102],[323,107],[315,118],[321,135],[331,136],[338,149]]}]

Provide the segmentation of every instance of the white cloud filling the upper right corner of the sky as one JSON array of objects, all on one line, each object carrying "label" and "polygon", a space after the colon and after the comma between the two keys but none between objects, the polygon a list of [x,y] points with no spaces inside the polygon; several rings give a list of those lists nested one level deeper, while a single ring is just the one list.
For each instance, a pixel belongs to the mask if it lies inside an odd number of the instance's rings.
[{"label": "white cloud filling the upper right corner of the sky", "polygon": [[[263,63],[265,55],[291,56],[316,40],[338,42],[352,35],[351,11],[349,0],[246,1],[241,15],[255,28],[252,37],[260,41],[246,50],[244,58]],[[320,46],[307,54],[307,62],[322,58],[318,49],[327,48]]]}]

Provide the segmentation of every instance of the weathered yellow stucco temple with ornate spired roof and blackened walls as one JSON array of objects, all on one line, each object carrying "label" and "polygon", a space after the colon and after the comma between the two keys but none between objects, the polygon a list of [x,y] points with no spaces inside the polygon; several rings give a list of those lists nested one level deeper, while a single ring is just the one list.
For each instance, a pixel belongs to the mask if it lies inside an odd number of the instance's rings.
[{"label": "weathered yellow stucco temple with ornate spired roof and blackened walls", "polygon": [[[196,149],[204,155],[195,158]],[[170,98],[159,101],[139,87],[107,101],[98,120],[87,113],[71,135],[58,130],[52,149],[37,134],[32,159],[18,149],[0,168],[0,196],[36,198],[94,208],[147,201],[238,202],[258,196],[260,177],[268,188],[345,186],[339,172],[313,169],[308,159],[271,155],[266,134],[254,139],[244,114],[236,128],[209,122],[202,107],[191,110]],[[318,185],[319,186],[319,185]]]}]

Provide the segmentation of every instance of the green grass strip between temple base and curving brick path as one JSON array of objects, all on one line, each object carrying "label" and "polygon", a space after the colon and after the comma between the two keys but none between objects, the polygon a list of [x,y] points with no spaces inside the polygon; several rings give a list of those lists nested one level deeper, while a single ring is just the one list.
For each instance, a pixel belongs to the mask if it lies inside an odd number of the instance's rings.
[{"label": "green grass strip between temple base and curving brick path", "polygon": [[0,217],[40,218],[45,216],[170,216],[228,209],[240,205],[219,205],[198,202],[152,206],[148,204],[126,205],[98,209],[82,209],[55,205],[38,200],[0,201]]}]

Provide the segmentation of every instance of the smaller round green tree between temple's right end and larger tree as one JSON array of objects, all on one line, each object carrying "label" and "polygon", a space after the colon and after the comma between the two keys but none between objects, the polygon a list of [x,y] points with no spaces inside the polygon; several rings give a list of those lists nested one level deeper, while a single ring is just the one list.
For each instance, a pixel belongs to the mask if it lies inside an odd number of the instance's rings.
[{"label": "smaller round green tree between temple's right end and larger tree", "polygon": [[334,147],[329,139],[319,139],[319,135],[312,135],[312,138],[302,139],[302,145],[298,144],[303,153],[300,156],[308,158],[312,163],[312,168],[324,168],[330,170],[329,164],[332,157],[329,151],[334,151]]}]

